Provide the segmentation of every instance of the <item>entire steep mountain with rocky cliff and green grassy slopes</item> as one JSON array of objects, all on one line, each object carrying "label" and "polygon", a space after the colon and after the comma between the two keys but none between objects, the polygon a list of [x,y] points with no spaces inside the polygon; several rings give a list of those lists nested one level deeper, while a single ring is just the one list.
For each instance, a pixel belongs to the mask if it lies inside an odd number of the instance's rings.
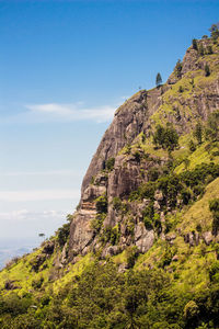
[{"label": "entire steep mountain with rocky cliff and green grassy slopes", "polygon": [[115,113],[77,211],[0,272],[2,328],[219,328],[219,31]]}]

